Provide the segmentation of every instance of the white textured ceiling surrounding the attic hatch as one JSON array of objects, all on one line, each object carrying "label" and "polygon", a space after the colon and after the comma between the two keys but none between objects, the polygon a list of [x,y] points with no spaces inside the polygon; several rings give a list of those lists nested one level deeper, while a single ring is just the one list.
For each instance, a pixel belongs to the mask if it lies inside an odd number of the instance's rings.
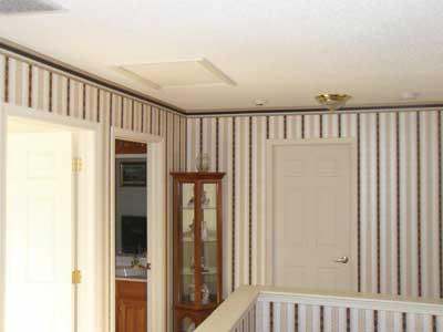
[{"label": "white textured ceiling surrounding the attic hatch", "polygon": [[[58,0],[0,37],[185,110],[443,101],[442,0]],[[152,89],[112,69],[206,58],[237,85]]]}]

